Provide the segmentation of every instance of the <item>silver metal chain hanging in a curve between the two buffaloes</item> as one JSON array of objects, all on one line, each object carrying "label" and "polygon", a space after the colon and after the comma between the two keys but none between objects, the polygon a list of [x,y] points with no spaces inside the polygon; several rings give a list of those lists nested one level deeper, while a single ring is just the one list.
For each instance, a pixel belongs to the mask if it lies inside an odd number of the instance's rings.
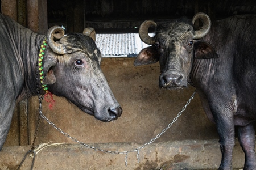
[{"label": "silver metal chain hanging in a curve between the two buffaloes", "polygon": [[72,141],[75,141],[85,147],[91,148],[95,151],[101,151],[104,153],[110,153],[110,154],[125,154],[125,165],[127,166],[127,160],[128,160],[128,154],[130,152],[137,152],[137,160],[139,163],[139,150],[142,150],[142,148],[146,147],[147,145],[150,145],[151,143],[153,143],[156,139],[158,139],[163,133],[165,133],[167,131],[167,129],[171,128],[172,124],[174,124],[174,122],[177,121],[177,118],[181,116],[181,114],[185,111],[185,109],[187,108],[187,106],[190,104],[191,100],[193,99],[193,97],[196,94],[196,90],[195,92],[193,92],[193,94],[191,95],[190,99],[187,101],[187,103],[185,104],[185,106],[181,109],[181,111],[177,114],[177,117],[175,117],[172,122],[170,124],[168,124],[167,128],[163,129],[161,133],[159,133],[158,135],[156,135],[155,138],[152,138],[150,140],[150,142],[145,143],[144,145],[142,145],[141,147],[135,148],[134,150],[130,150],[130,151],[109,151],[109,150],[102,150],[100,148],[94,147],[94,146],[90,146],[87,145],[83,142],[78,141],[76,138],[71,137],[71,135],[69,135],[68,133],[65,133],[63,130],[61,130],[60,128],[57,128],[57,126],[55,124],[53,124],[46,116],[44,116],[44,114],[42,113],[42,109],[39,109],[39,113],[40,116],[46,120],[48,122],[48,124],[50,124],[53,128],[55,128],[57,131],[59,131],[60,133],[62,133],[63,135],[65,135],[66,137],[70,138]]}]

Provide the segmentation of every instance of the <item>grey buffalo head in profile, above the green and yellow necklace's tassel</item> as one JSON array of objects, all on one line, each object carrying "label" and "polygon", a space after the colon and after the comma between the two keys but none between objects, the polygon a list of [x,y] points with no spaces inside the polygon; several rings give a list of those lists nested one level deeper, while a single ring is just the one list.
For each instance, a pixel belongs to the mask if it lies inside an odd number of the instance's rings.
[{"label": "grey buffalo head in profile, above the green and yellow necklace's tassel", "polygon": [[48,90],[98,120],[109,122],[119,118],[122,108],[101,71],[101,52],[94,42],[94,29],[85,28],[84,33],[64,36],[61,27],[52,27],[47,32],[47,41],[43,84],[47,84]]}]

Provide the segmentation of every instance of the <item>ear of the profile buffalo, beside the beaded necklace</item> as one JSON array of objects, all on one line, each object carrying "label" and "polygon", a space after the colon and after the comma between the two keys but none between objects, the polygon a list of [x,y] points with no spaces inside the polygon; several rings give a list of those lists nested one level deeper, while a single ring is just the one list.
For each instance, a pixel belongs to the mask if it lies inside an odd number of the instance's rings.
[{"label": "ear of the profile buffalo, beside the beaded necklace", "polygon": [[53,66],[56,66],[57,61],[55,59],[47,58],[44,60],[43,70],[44,70],[44,79],[43,84],[53,84],[56,82],[56,77],[52,69]]}]

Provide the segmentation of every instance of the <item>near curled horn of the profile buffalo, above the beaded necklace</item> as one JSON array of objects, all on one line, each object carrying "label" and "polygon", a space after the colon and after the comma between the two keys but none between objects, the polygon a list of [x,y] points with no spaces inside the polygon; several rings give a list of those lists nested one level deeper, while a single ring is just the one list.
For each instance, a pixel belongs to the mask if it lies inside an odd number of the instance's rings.
[{"label": "near curled horn of the profile buffalo, above the beaded necklace", "polygon": [[49,28],[47,32],[47,42],[53,52],[57,54],[66,54],[67,50],[63,44],[55,42],[54,39],[60,40],[64,36],[64,29],[59,26],[53,26]]}]

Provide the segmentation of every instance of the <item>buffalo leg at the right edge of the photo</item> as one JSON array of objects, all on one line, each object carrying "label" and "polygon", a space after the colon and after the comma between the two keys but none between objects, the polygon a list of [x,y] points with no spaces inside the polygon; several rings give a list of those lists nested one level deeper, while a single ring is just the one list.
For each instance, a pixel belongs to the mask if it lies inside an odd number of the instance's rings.
[{"label": "buffalo leg at the right edge of the photo", "polygon": [[238,127],[238,140],[243,152],[245,152],[245,166],[243,169],[256,169],[255,131],[253,123]]}]

